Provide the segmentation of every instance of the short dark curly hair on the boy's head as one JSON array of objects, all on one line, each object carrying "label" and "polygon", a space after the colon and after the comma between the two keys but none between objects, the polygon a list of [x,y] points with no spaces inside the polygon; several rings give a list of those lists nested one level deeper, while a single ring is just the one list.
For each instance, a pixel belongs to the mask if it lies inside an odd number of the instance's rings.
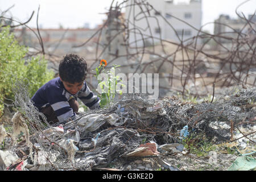
[{"label": "short dark curly hair on the boy's head", "polygon": [[63,81],[71,84],[80,83],[85,80],[87,64],[84,58],[75,54],[68,54],[60,61],[59,75]]}]

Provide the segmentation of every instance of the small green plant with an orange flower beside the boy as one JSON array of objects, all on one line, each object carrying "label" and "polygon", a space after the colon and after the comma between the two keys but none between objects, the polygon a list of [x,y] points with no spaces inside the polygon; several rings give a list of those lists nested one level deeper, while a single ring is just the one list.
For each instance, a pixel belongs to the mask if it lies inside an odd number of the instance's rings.
[{"label": "small green plant with an orange flower beside the boy", "polygon": [[[119,65],[113,65],[112,68],[110,68],[109,71],[106,71],[104,67],[106,67],[107,61],[102,59],[100,62],[100,65],[95,68],[96,71],[96,78],[98,81],[98,89],[97,91],[101,93],[99,96],[101,99],[100,105],[106,106],[110,105],[114,101],[115,95],[118,93],[122,95],[122,90],[117,90],[117,84],[121,84],[122,86],[125,86],[122,84],[122,81],[119,79],[118,76],[115,76],[115,69],[120,67]],[[104,80],[102,79],[101,72],[103,72]]]}]

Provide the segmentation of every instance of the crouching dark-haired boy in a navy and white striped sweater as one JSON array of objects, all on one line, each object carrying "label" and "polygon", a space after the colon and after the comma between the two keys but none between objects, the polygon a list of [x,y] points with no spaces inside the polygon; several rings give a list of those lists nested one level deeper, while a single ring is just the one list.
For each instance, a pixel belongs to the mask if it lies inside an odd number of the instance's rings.
[{"label": "crouching dark-haired boy in a navy and white striped sweater", "polygon": [[100,99],[88,88],[85,78],[86,61],[78,55],[69,54],[60,61],[59,77],[44,84],[31,98],[47,121],[62,122],[76,115],[79,110],[77,97],[89,107],[100,108]]}]

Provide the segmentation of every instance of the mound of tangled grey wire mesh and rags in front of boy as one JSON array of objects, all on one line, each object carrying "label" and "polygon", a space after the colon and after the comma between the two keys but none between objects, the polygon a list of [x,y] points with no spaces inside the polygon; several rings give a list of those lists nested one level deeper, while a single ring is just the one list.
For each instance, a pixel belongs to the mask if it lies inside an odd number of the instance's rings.
[{"label": "mound of tangled grey wire mesh and rags in front of boy", "polygon": [[26,126],[29,136],[18,144],[14,142],[10,150],[16,154],[23,151],[23,159],[47,170],[92,170],[107,167],[114,159],[126,159],[142,143],[180,143],[180,130],[185,125],[193,134],[228,141],[232,128],[255,118],[255,107],[251,107],[255,89],[242,89],[201,104],[182,102],[176,97],[152,101],[127,96],[104,109],[89,110],[49,125],[33,106],[26,86],[18,81],[15,107],[23,119],[19,127]]}]

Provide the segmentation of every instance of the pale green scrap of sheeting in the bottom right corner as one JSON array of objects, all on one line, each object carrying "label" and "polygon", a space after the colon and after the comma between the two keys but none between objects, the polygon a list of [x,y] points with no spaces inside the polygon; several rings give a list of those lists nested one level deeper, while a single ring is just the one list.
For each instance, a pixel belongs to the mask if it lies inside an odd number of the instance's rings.
[{"label": "pale green scrap of sheeting in the bottom right corner", "polygon": [[240,156],[228,168],[228,171],[248,171],[256,167],[256,160],[249,156]]}]

